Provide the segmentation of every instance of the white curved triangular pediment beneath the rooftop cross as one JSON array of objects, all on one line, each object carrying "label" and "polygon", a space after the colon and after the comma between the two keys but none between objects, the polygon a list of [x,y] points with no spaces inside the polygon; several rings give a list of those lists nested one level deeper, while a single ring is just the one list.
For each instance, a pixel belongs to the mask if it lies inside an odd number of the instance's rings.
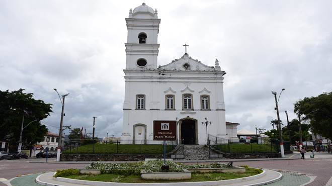
[{"label": "white curved triangular pediment beneath the rooftop cross", "polygon": [[214,71],[213,66],[203,64],[197,59],[184,54],[181,58],[173,60],[171,63],[159,66],[159,70],[178,70],[178,71]]}]

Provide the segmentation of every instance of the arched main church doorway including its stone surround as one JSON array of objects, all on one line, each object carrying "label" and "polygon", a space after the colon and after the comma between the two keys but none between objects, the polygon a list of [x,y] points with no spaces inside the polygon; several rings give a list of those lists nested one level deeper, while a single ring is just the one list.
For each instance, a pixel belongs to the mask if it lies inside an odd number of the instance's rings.
[{"label": "arched main church doorway including its stone surround", "polygon": [[179,137],[181,139],[181,144],[198,144],[197,120],[189,117],[181,119],[179,127]]}]

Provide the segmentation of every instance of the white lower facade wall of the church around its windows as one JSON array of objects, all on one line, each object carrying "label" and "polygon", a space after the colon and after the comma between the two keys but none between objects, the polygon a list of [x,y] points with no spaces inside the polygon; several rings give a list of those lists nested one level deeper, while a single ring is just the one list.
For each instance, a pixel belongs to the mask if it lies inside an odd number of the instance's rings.
[{"label": "white lower facade wall of the church around its windows", "polygon": [[[127,86],[127,83],[130,83],[130,86]],[[184,84],[184,82],[160,82],[151,80],[143,81],[142,79],[137,81],[126,81],[126,88],[128,87],[129,90],[126,91],[125,104],[127,104],[127,106],[124,106],[124,108],[131,110],[124,111],[123,131],[126,131],[125,133],[130,135],[123,136],[122,139],[132,139],[133,125],[145,124],[147,126],[146,139],[152,140],[153,120],[175,120],[175,118],[180,120],[188,116],[198,121],[199,144],[206,144],[206,128],[205,125],[202,125],[201,123],[202,121],[205,122],[205,117],[208,119],[208,121],[212,122],[212,124],[208,126],[208,133],[214,136],[225,138],[225,111],[224,103],[222,100],[223,95],[220,95],[223,91],[220,89],[220,86],[222,88],[222,82],[191,82],[188,88],[186,88],[187,85]],[[169,90],[170,87],[173,91],[176,92]],[[217,92],[215,92],[216,87],[218,89]],[[169,91],[165,92],[166,90]],[[145,95],[145,110],[135,110],[137,94]],[[175,95],[176,110],[165,110],[165,95],[169,94]],[[193,95],[194,110],[182,109],[183,94]],[[211,111],[201,110],[201,95],[210,96]]]}]

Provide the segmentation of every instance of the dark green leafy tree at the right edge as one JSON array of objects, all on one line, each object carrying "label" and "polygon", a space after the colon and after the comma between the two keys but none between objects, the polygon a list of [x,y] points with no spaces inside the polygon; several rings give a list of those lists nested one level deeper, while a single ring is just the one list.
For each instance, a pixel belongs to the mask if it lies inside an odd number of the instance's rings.
[{"label": "dark green leafy tree at the right edge", "polygon": [[310,121],[313,133],[332,139],[332,92],[297,101],[294,112],[304,115],[303,120]]}]

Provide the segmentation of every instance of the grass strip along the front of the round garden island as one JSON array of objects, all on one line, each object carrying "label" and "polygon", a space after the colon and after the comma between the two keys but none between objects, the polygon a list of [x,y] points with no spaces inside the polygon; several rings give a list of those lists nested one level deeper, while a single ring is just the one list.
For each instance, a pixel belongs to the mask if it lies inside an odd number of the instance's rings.
[{"label": "grass strip along the front of the round garden island", "polygon": [[[162,180],[162,182],[187,182],[187,181],[215,181],[225,179],[235,179],[258,174],[257,169],[247,168],[245,173],[192,173],[189,180]],[[130,183],[155,183],[157,180],[143,180],[140,175],[119,175],[119,174],[100,174],[100,175],[70,175],[65,176],[72,179],[82,179],[90,181],[109,181],[109,182],[130,182]]]}]

